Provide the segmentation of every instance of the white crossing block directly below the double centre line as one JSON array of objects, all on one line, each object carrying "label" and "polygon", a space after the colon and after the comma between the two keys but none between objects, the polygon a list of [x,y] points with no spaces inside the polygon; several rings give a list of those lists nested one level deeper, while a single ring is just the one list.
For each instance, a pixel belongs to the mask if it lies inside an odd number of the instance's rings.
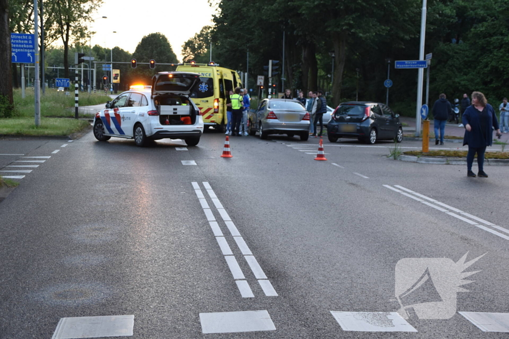
[{"label": "white crossing block directly below the double centre line", "polygon": [[200,313],[202,333],[274,331],[267,311]]}]

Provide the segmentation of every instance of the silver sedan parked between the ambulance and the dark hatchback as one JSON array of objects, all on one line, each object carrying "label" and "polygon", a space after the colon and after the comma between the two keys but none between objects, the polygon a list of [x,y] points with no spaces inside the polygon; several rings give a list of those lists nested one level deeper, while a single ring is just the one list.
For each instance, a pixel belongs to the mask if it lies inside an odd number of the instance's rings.
[{"label": "silver sedan parked between the ambulance and the dark hatchback", "polygon": [[258,108],[249,112],[249,134],[260,133],[260,139],[269,134],[286,134],[290,138],[300,136],[300,140],[309,138],[309,113],[295,100],[264,99]]}]

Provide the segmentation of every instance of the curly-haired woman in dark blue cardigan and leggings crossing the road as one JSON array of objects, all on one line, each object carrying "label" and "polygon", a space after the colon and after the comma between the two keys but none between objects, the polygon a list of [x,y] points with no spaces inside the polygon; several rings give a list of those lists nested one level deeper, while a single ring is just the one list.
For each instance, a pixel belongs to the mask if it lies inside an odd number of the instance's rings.
[{"label": "curly-haired woman in dark blue cardigan and leggings crossing the road", "polygon": [[467,176],[476,176],[472,172],[472,163],[474,162],[475,153],[477,153],[477,165],[479,167],[477,175],[487,178],[488,174],[484,172],[483,168],[486,146],[492,145],[493,128],[497,131],[497,135],[500,134],[495,110],[488,104],[484,94],[473,92],[472,105],[465,110],[462,120],[465,126],[463,145],[468,145]]}]

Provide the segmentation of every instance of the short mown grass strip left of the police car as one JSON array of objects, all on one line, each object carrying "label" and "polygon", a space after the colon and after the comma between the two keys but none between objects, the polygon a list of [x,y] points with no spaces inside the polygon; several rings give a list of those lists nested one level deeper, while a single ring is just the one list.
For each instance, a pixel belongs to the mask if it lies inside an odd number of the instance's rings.
[{"label": "short mown grass strip left of the police car", "polygon": [[90,126],[87,120],[67,118],[41,118],[36,127],[34,117],[0,119],[0,135],[67,136]]}]

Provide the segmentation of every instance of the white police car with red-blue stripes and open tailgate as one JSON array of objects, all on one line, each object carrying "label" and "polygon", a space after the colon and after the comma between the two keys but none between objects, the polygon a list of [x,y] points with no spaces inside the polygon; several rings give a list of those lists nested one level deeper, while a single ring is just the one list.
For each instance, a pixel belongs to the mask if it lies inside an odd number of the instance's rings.
[{"label": "white police car with red-blue stripes and open tailgate", "polygon": [[189,95],[199,83],[197,73],[157,73],[151,89],[128,90],[97,112],[94,136],[99,141],[111,137],[134,139],[137,146],[144,146],[148,139],[163,138],[197,145],[203,133],[203,119]]}]

